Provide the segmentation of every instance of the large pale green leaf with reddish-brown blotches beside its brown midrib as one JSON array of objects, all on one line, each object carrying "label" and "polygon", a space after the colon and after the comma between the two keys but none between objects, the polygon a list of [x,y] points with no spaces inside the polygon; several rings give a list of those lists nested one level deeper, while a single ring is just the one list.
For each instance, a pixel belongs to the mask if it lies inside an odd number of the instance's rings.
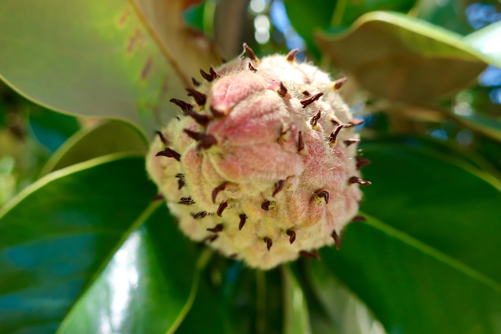
[{"label": "large pale green leaf with reddish-brown blotches beside its brown midrib", "polygon": [[176,0],[0,4],[0,78],[51,109],[123,118],[151,133],[177,109],[214,46],[187,28]]}]

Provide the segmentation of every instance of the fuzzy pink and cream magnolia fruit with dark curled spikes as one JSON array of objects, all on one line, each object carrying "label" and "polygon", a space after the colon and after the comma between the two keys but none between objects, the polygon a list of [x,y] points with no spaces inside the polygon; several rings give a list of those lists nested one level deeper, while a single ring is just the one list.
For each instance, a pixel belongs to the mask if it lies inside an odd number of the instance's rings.
[{"label": "fuzzy pink and cream magnolia fruit with dark curled spikes", "polygon": [[[158,132],[146,159],[180,229],[247,265],[269,269],[336,244],[361,199],[358,135],[339,89],[287,56],[236,59],[193,79],[193,103]],[[244,55],[247,55],[244,57]]]}]

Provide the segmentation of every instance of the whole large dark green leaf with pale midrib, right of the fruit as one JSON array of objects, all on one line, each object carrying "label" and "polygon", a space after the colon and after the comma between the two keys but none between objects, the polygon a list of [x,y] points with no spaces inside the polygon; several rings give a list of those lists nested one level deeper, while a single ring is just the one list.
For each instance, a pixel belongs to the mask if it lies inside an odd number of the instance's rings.
[{"label": "whole large dark green leaf with pale midrib, right of the fruit", "polygon": [[390,333],[497,333],[501,186],[427,152],[365,145],[362,210],[379,220],[348,225],[321,257]]}]

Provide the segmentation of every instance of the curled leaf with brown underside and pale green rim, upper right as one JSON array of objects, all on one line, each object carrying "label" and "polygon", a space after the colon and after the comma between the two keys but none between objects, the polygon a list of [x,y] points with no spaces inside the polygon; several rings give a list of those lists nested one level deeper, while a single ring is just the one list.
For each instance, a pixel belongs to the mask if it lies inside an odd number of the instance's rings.
[{"label": "curled leaf with brown underside and pale green rim, upper right", "polygon": [[488,63],[459,35],[398,13],[366,14],[348,32],[319,33],[317,41],[363,88],[399,101],[450,95],[470,85]]}]

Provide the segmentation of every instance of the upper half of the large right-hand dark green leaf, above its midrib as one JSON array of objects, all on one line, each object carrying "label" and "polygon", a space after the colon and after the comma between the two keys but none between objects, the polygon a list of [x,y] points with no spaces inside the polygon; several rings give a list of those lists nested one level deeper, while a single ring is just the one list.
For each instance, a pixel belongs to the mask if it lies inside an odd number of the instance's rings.
[{"label": "upper half of the large right-hand dark green leaf, above its midrib", "polygon": [[363,176],[373,181],[364,188],[363,211],[492,279],[501,277],[499,181],[403,145],[364,145],[363,154],[372,161]]}]

